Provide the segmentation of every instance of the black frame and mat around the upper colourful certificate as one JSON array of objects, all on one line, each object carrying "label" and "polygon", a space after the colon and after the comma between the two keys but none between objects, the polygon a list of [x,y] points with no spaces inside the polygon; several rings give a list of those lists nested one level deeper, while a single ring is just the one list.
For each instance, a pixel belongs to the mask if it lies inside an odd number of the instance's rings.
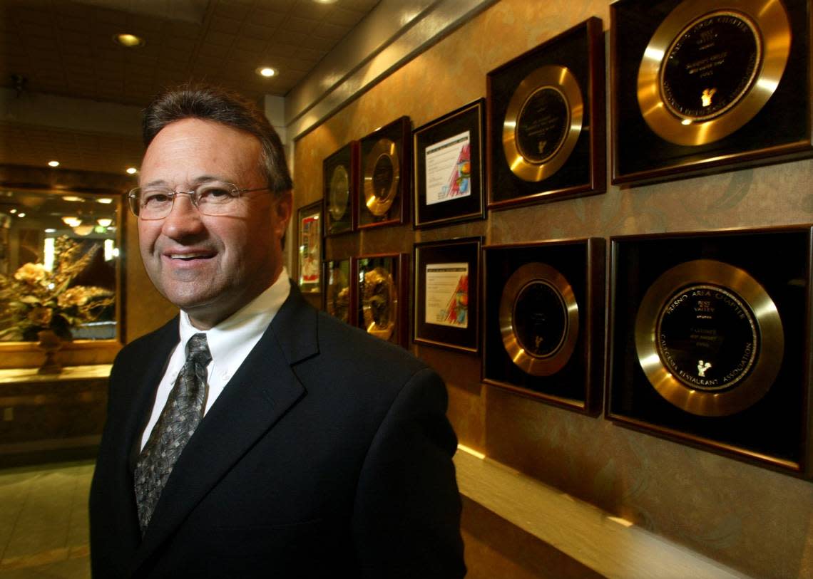
[{"label": "black frame and mat around the upper colourful certificate", "polygon": [[[426,204],[426,149],[461,132],[470,132],[471,194],[451,201]],[[485,99],[478,99],[412,132],[415,155],[415,229],[485,219]]]}]

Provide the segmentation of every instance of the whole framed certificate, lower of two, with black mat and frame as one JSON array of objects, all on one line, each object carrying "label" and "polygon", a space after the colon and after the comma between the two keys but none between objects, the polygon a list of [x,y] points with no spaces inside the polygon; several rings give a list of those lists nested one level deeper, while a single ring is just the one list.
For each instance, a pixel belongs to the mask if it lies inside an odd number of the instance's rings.
[{"label": "whole framed certificate, lower of two, with black mat and frame", "polygon": [[415,343],[480,351],[482,242],[467,237],[415,244]]}]

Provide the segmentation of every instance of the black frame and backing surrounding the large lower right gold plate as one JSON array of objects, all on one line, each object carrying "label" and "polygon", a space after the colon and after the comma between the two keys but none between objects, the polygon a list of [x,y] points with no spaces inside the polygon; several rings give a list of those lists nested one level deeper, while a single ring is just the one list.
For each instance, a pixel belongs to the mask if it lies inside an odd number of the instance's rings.
[{"label": "black frame and backing surrounding the large lower right gold plate", "polygon": [[[802,468],[810,243],[807,226],[612,237],[606,416],[743,460],[791,471]],[[785,356],[771,389],[750,408],[728,417],[695,416],[667,402],[647,380],[637,359],[635,319],[646,290],[666,270],[695,259],[724,261],[746,270],[771,296],[785,331]]]}]

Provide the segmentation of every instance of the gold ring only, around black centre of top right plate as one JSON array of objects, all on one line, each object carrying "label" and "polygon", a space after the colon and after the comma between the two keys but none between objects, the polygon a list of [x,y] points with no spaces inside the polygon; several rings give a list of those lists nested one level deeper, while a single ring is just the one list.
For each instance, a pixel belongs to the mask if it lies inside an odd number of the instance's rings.
[{"label": "gold ring only, around black centre of top right plate", "polygon": [[[749,33],[754,58],[749,59],[741,82],[728,99],[721,97],[724,101],[719,109],[712,105],[717,91],[712,82],[698,89],[697,108],[680,110],[667,96],[670,89],[664,88],[665,69],[670,58],[678,59],[685,45],[702,46],[703,28],[715,20]],[[644,51],[637,85],[641,115],[657,135],[676,145],[706,145],[720,140],[753,119],[776,92],[788,62],[790,41],[788,13],[778,0],[685,0],[667,15]],[[713,38],[710,42],[713,47]],[[725,58],[726,51],[718,51],[681,66],[689,69],[689,76],[701,79],[711,75],[715,67],[723,67]]]}]

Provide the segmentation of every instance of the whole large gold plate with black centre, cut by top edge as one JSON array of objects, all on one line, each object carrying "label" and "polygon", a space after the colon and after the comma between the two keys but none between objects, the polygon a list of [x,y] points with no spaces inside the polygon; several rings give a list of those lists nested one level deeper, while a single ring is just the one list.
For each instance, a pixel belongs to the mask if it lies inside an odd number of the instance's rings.
[{"label": "whole large gold plate with black centre, cut by top edge", "polygon": [[762,110],[790,54],[780,0],[685,0],[655,30],[638,69],[650,128],[676,145],[706,145]]}]

